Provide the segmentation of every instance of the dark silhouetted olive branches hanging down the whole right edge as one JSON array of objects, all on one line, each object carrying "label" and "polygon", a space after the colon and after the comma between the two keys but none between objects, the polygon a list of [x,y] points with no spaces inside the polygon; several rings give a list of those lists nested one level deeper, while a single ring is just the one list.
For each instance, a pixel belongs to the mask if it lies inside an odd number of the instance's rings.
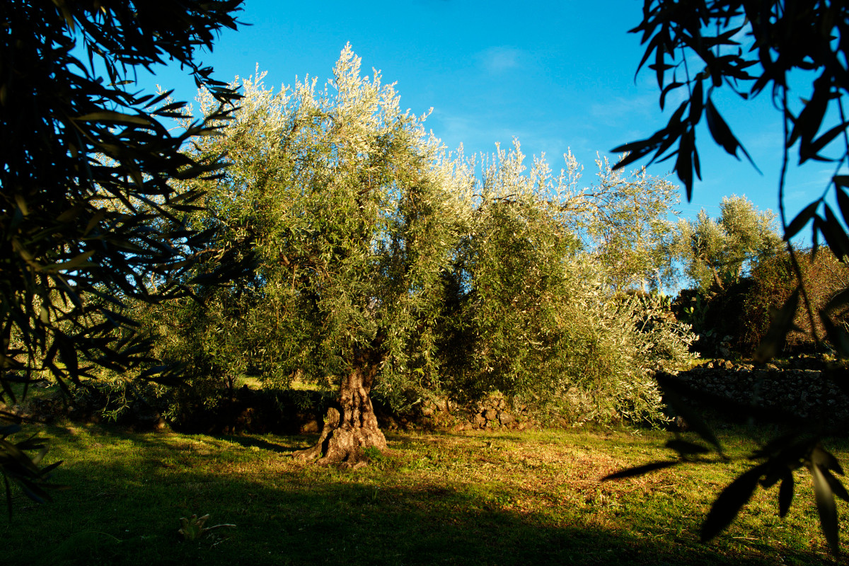
[{"label": "dark silhouetted olive branches hanging down the whole right edge", "polygon": [[[649,68],[654,71],[661,91],[661,109],[672,93],[680,96],[682,102],[672,112],[666,126],[648,138],[617,148],[616,151],[630,154],[616,166],[628,165],[651,154],[649,162],[674,159],[673,170],[683,182],[689,199],[694,178],[701,177],[695,130],[702,120],[707,122],[714,142],[728,154],[738,159],[739,155],[749,157],[732,126],[717,109],[714,94],[723,89],[748,100],[766,91],[783,117],[780,134],[783,162],[778,193],[784,240],[789,242],[810,223],[814,249],[820,238],[824,238],[835,256],[846,261],[849,256],[849,235],[845,228],[849,221],[849,195],[846,193],[849,177],[841,170],[849,160],[844,109],[849,95],[849,6],[836,0],[644,0],[643,20],[632,31],[641,34],[645,45],[638,70],[650,61]],[[800,85],[810,85],[810,88],[803,88],[801,96],[797,97],[794,92]],[[793,219],[788,218],[784,210],[784,179],[791,152],[798,156],[800,165],[809,160],[834,165],[834,174],[820,196]],[[838,206],[836,212],[826,202],[832,191]],[[796,279],[803,282],[795,252],[790,246],[788,249]],[[779,352],[784,336],[793,328],[800,305],[806,307],[811,328],[816,327],[813,317],[820,318],[829,344],[846,360],[849,334],[835,324],[831,313],[841,310],[847,301],[849,290],[843,289],[815,313],[805,285],[800,284],[784,305],[773,311],[773,323],[756,351],[756,360],[767,361]],[[835,363],[823,375],[845,389],[844,363]],[[673,389],[680,387],[674,380],[666,380],[664,384],[667,396],[677,398]],[[698,395],[692,391],[689,394]],[[708,444],[722,451],[710,429],[700,424],[698,430]],[[711,539],[721,532],[759,485],[766,488],[780,483],[779,514],[783,516],[793,500],[795,480],[792,472],[807,468],[825,538],[831,551],[839,553],[834,498],[849,497],[835,478],[835,474],[843,473],[840,463],[820,442],[830,431],[814,418],[763,446],[753,455],[756,463],[751,469],[717,497],[703,524],[702,537]],[[679,462],[684,462],[706,447],[678,445],[678,448]]]}]

